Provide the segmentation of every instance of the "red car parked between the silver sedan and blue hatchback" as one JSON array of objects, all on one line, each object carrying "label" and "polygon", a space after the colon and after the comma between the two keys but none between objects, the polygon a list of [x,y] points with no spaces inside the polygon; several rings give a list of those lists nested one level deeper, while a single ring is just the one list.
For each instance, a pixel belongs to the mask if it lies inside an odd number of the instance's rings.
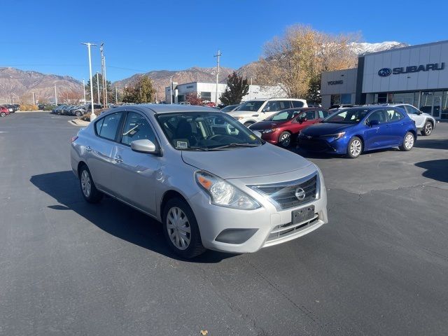
[{"label": "red car parked between the silver sedan and blue hatchback", "polygon": [[320,122],[328,116],[328,111],[320,107],[286,109],[275,113],[260,123],[249,128],[261,133],[261,139],[274,145],[288,147],[291,141],[297,140],[301,130]]}]

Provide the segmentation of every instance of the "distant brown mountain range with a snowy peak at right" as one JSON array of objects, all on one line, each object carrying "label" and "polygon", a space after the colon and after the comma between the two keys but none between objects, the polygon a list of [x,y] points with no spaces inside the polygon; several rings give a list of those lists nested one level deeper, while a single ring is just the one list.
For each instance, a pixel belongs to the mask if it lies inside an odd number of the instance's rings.
[{"label": "distant brown mountain range with a snowy peak at right", "polygon": [[[406,43],[386,41],[381,43],[352,43],[351,48],[357,55],[367,52],[378,52],[394,48],[406,47]],[[221,67],[219,78],[224,82],[228,75],[236,71],[241,76],[251,78],[254,76],[257,62],[251,62],[241,66],[239,69]],[[216,68],[201,68],[194,66],[186,70],[155,70],[147,73],[136,73],[133,76],[112,83],[112,87],[122,90],[140,76],[146,74],[153,80],[153,85],[159,100],[165,99],[165,87],[169,86],[170,78],[176,83],[190,83],[195,81],[212,82],[216,80]],[[44,74],[36,71],[23,71],[14,68],[0,68],[0,104],[9,102],[32,103],[34,92],[37,100],[53,102],[55,99],[55,85],[59,101],[65,97],[82,97],[83,83],[70,76],[58,76]]]}]

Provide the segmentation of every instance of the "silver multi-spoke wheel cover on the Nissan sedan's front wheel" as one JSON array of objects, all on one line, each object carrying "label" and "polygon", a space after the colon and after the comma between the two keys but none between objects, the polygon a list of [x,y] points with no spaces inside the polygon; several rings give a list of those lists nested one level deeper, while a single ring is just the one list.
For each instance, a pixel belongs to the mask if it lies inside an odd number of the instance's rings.
[{"label": "silver multi-spoke wheel cover on the Nissan sedan's front wheel", "polygon": [[167,215],[167,230],[169,239],[179,250],[185,250],[190,245],[191,228],[187,215],[178,207],[172,207]]}]

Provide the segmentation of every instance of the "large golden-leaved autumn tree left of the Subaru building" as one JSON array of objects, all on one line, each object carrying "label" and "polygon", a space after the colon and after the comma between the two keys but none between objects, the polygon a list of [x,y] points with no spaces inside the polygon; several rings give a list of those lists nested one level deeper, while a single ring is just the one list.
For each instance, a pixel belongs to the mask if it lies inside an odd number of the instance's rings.
[{"label": "large golden-leaved autumn tree left of the Subaru building", "polygon": [[283,36],[265,44],[256,69],[257,80],[280,85],[288,97],[309,97],[310,92],[314,97],[318,94],[316,87],[320,90],[323,71],[356,66],[358,58],[350,46],[355,41],[356,34],[335,36],[305,25],[288,27]]}]

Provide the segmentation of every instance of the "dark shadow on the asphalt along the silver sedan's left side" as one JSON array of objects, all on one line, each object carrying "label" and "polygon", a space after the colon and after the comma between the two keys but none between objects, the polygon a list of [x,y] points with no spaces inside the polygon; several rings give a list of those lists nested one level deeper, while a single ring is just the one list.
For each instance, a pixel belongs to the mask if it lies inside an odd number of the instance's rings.
[{"label": "dark shadow on the asphalt along the silver sedan's left side", "polygon": [[31,176],[30,181],[59,203],[48,205],[48,208],[75,211],[105,232],[169,258],[188,262],[214,263],[235,255],[206,251],[192,260],[179,258],[167,246],[162,225],[158,221],[112,197],[104,197],[99,204],[85,202],[80,193],[78,179],[71,171],[34,175]]}]

